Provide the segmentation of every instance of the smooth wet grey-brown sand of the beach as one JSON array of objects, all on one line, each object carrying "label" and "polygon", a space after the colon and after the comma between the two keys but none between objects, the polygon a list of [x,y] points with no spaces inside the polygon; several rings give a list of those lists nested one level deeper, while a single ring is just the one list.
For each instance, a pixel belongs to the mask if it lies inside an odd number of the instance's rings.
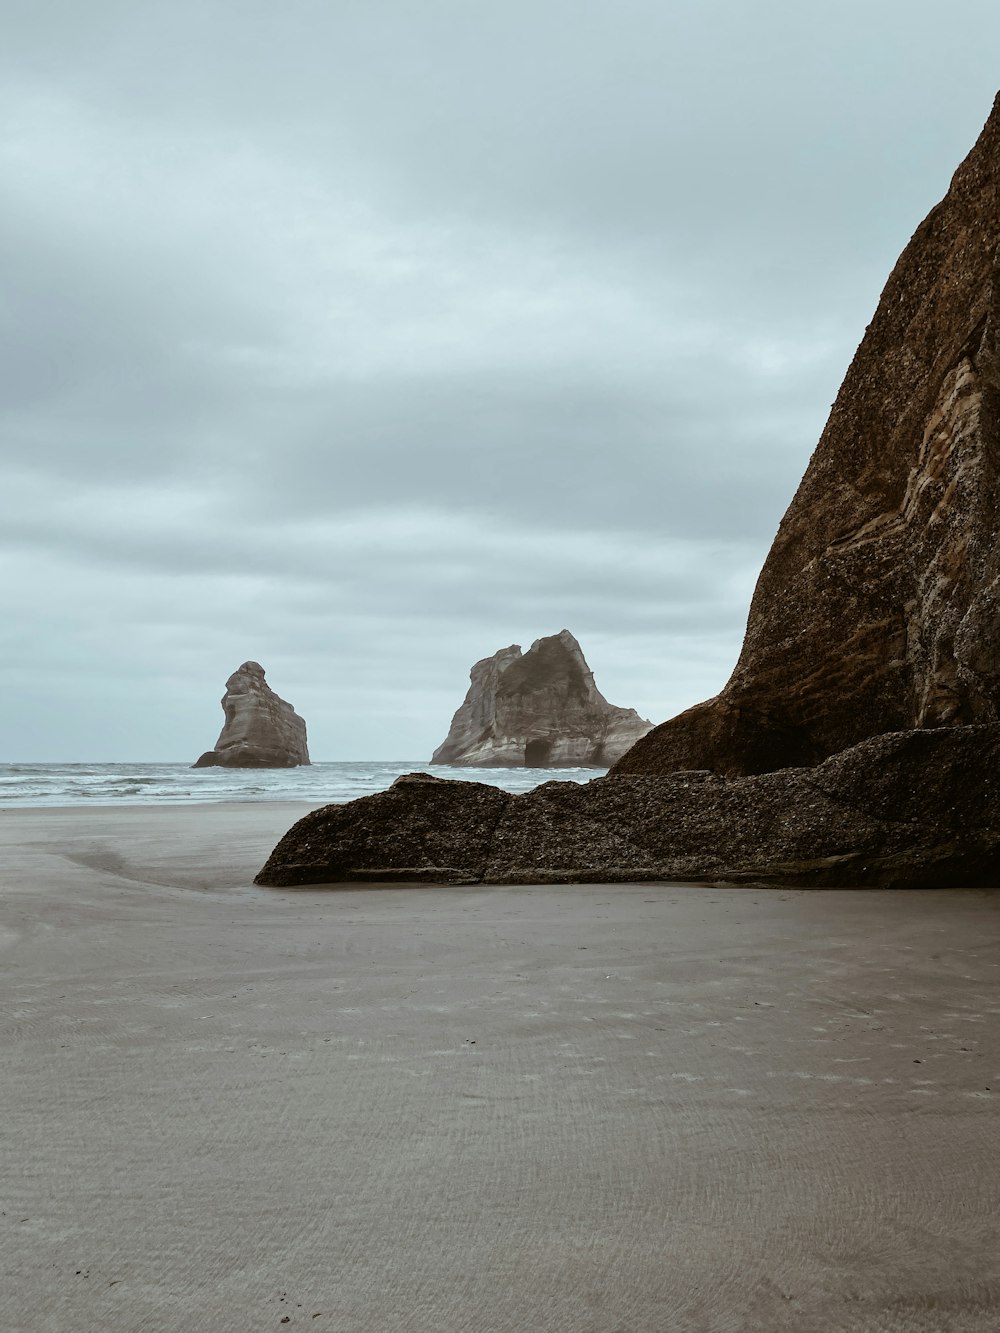
[{"label": "smooth wet grey-brown sand of the beach", "polygon": [[0,1328],[995,1330],[1000,894],[256,889],[0,810]]}]

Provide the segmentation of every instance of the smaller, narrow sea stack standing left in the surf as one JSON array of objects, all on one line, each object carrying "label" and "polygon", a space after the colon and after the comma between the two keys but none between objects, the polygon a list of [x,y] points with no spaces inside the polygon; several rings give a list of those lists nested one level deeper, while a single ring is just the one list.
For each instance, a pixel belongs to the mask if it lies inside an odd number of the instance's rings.
[{"label": "smaller, narrow sea stack standing left in the surf", "polygon": [[309,762],[305,722],[269,688],[260,663],[244,663],[225,682],[225,725],[192,768],[296,768]]}]

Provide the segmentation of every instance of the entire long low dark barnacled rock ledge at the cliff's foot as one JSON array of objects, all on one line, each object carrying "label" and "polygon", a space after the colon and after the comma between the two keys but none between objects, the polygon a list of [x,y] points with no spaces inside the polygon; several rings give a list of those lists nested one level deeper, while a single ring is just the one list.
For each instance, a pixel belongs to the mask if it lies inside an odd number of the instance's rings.
[{"label": "entire long low dark barnacled rock ledge at the cliff's foot", "polygon": [[328,805],[257,884],[708,880],[921,888],[1000,878],[1000,725],[909,730],[815,768],[545,782],[412,774]]}]

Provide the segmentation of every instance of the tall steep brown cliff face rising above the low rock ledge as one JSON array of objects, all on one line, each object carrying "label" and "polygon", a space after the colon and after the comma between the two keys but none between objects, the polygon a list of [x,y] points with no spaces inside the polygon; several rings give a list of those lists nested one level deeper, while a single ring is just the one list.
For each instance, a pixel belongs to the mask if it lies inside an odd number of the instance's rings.
[{"label": "tall steep brown cliff face rising above the low rock ledge", "polygon": [[883,292],[723,692],[616,773],[763,773],[1000,717],[1000,97]]}]

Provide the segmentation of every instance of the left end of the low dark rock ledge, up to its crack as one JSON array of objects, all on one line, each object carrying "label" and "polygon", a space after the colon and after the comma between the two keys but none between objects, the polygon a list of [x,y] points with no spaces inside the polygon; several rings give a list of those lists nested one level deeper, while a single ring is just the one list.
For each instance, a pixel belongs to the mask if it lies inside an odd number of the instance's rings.
[{"label": "left end of the low dark rock ledge, up to its crack", "polygon": [[299,820],[255,882],[476,882],[485,872],[493,830],[513,800],[485,782],[408,773],[377,796],[324,805]]}]

